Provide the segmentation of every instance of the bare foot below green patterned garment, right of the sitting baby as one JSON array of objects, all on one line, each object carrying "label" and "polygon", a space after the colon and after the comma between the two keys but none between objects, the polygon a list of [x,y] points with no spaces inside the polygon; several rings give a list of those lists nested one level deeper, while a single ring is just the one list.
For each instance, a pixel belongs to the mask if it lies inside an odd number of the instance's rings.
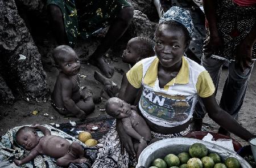
[{"label": "bare foot below green patterned garment, right of the sitting baby", "polygon": [[98,67],[102,73],[102,75],[110,78],[114,74],[114,68],[110,67],[108,63],[106,63],[103,57],[100,58],[91,58],[90,63],[94,66]]}]

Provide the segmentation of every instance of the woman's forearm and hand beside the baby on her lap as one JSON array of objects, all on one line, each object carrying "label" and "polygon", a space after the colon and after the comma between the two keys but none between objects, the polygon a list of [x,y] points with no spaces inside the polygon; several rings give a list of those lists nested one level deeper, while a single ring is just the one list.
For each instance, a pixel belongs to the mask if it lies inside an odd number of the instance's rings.
[{"label": "woman's forearm and hand beside the baby on her lap", "polygon": [[127,135],[125,130],[123,130],[123,125],[121,120],[117,119],[117,124],[115,125],[115,129],[117,130],[118,136],[120,139],[122,154],[124,152],[123,148],[125,148],[130,156],[135,157],[136,154],[133,146],[133,141],[131,140],[131,137]]}]

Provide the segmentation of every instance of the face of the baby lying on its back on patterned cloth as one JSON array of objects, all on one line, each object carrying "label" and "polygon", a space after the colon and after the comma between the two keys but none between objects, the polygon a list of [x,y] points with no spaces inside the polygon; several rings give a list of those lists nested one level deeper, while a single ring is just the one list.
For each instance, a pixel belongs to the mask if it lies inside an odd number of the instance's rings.
[{"label": "face of the baby lying on its back on patterned cloth", "polygon": [[16,141],[26,150],[31,150],[38,145],[38,134],[33,131],[22,131],[16,136]]}]

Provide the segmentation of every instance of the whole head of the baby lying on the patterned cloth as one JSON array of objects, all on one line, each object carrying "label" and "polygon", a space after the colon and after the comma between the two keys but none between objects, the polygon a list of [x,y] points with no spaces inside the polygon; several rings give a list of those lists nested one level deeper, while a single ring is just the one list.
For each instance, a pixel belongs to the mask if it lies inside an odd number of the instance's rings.
[{"label": "whole head of the baby lying on the patterned cloth", "polygon": [[34,128],[24,126],[15,134],[16,142],[26,150],[31,150],[38,145],[39,136]]}]

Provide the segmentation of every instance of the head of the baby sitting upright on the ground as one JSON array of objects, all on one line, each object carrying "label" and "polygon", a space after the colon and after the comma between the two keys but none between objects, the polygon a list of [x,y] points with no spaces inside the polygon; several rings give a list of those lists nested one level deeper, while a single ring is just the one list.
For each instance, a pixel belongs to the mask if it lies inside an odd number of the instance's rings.
[{"label": "head of the baby sitting upright on the ground", "polygon": [[53,50],[53,59],[59,70],[65,75],[73,76],[80,70],[80,61],[75,50],[68,45],[57,46]]}]

